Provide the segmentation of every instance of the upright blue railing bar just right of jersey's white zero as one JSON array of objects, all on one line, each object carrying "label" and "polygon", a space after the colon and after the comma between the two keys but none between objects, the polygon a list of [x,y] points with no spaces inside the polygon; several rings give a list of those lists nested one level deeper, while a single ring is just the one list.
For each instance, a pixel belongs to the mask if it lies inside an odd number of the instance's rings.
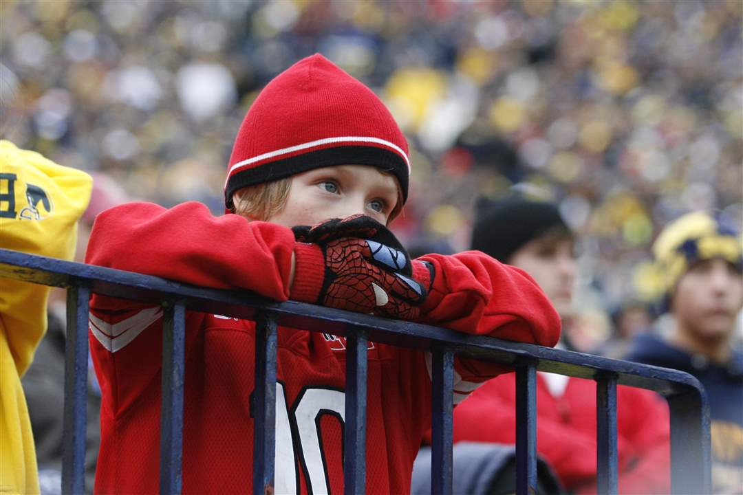
[{"label": "upright blue railing bar just right of jersey's white zero", "polygon": [[366,371],[369,341],[351,332],[345,341],[345,432],[343,489],[345,495],[364,494],[366,487]]}]

